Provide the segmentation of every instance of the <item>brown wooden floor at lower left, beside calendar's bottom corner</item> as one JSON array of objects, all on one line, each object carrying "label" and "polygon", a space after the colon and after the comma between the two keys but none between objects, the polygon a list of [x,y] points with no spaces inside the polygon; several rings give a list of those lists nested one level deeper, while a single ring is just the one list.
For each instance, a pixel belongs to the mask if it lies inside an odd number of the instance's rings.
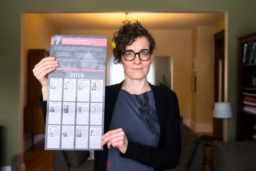
[{"label": "brown wooden floor at lower left, beside calendar's bottom corner", "polygon": [[52,151],[45,150],[44,143],[42,140],[24,153],[26,171],[53,171]]}]

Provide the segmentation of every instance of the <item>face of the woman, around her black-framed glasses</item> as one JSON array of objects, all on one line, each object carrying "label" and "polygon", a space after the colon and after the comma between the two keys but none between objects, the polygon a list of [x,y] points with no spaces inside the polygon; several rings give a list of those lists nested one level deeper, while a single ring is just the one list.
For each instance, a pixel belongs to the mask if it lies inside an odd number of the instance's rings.
[{"label": "face of the woman, around her black-framed glasses", "polygon": [[[125,51],[132,50],[135,53],[141,50],[150,50],[150,42],[146,37],[137,37],[136,41],[132,45],[126,46]],[[131,80],[142,80],[146,79],[148,71],[150,71],[150,65],[153,62],[153,54],[151,58],[147,61],[140,60],[139,56],[136,55],[135,59],[132,61],[126,61],[121,57],[120,63],[123,65],[125,79]]]}]

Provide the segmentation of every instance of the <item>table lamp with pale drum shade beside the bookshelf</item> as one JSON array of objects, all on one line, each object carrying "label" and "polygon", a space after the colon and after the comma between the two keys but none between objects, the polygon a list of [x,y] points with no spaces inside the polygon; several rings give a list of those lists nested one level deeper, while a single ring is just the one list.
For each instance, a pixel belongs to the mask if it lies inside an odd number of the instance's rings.
[{"label": "table lamp with pale drum shade beside the bookshelf", "polygon": [[231,110],[230,103],[229,102],[215,102],[213,117],[223,119],[222,120],[223,141],[227,142],[227,118],[232,117],[232,110]]}]

